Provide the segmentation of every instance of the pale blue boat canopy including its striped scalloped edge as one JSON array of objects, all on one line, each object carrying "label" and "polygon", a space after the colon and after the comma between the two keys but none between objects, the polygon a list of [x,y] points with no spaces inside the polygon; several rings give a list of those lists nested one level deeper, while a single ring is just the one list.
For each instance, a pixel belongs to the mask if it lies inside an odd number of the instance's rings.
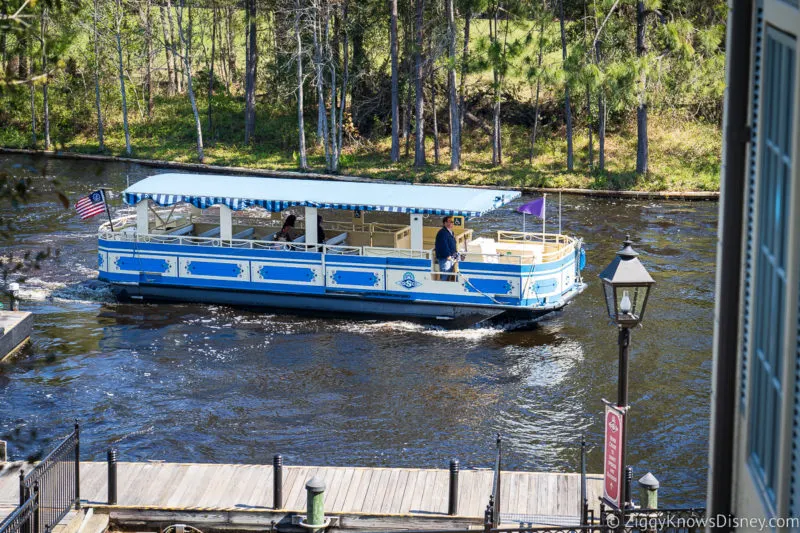
[{"label": "pale blue boat canopy including its striped scalloped edge", "polygon": [[247,207],[283,211],[305,206],[477,217],[520,194],[436,185],[170,173],[150,176],[131,185],[125,189],[124,199],[130,205],[150,199],[161,206],[184,202],[201,209],[226,205],[234,211]]}]

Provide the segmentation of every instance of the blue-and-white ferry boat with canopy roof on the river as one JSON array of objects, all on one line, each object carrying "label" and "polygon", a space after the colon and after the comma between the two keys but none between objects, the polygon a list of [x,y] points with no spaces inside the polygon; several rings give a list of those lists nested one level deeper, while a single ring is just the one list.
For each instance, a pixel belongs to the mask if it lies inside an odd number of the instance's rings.
[{"label": "blue-and-white ferry boat with canopy roof on the river", "polygon": [[[99,279],[123,299],[411,318],[446,327],[531,321],[583,290],[584,255],[575,237],[513,230],[475,237],[467,228],[470,218],[519,196],[467,187],[158,174],[124,191],[134,214],[100,227]],[[328,220],[331,210],[345,220]],[[296,238],[278,241],[289,212],[298,215]],[[325,240],[319,242],[323,212]],[[406,214],[408,223],[381,222],[381,212]],[[445,215],[456,222],[454,273],[439,272],[434,253]]]}]

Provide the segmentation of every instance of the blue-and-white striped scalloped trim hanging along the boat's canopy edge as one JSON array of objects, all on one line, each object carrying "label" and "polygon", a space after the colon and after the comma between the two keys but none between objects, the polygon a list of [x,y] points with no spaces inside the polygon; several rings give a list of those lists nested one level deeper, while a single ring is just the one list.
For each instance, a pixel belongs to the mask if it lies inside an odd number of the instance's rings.
[{"label": "blue-and-white striped scalloped trim hanging along the boat's canopy edge", "polygon": [[[209,196],[181,196],[175,194],[149,194],[149,193],[125,193],[126,204],[136,205],[142,200],[152,200],[154,203],[166,207],[179,203],[191,204],[200,209],[206,209],[214,205],[226,205],[233,211],[240,211],[248,207],[261,207],[267,211],[280,212],[289,207],[316,207],[318,209],[340,209],[349,211],[385,211],[389,213],[417,213],[422,215],[440,216],[463,216],[478,217],[480,211],[464,211],[454,209],[431,209],[424,207],[401,207],[395,205],[359,205],[359,204],[328,204],[318,202],[287,202],[283,200],[251,200],[248,198],[226,198]],[[503,198],[498,196],[493,202],[493,209],[504,204]]]}]

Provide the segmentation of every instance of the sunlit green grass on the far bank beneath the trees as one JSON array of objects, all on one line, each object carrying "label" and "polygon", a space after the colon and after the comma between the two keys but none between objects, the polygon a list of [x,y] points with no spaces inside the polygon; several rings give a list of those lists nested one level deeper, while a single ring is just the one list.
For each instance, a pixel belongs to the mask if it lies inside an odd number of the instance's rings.
[{"label": "sunlit green grass on the far bank beneath the trees", "polygon": [[[243,106],[239,99],[216,97],[214,127],[207,130],[203,110],[205,163],[272,170],[297,169],[296,115],[257,114],[255,143],[244,145]],[[54,149],[77,153],[98,153],[96,124],[65,124],[69,109],[54,109],[51,138]],[[59,117],[59,114],[65,117]],[[446,115],[445,115],[446,116]],[[0,146],[30,148],[30,124],[24,115],[17,115],[0,128]],[[309,165],[311,170],[324,171],[324,153],[315,143],[315,113],[309,110],[306,120]],[[188,98],[158,99],[151,120],[129,115],[133,157],[179,162],[197,162],[194,119]],[[66,123],[69,119],[66,119]],[[430,121],[429,121],[430,123]],[[545,129],[537,139],[536,156],[528,161],[530,131],[522,126],[503,128],[503,165],[491,164],[489,136],[479,128],[467,128],[462,149],[462,168],[449,170],[450,150],[447,133],[440,132],[439,164],[434,164],[432,136],[427,137],[429,164],[421,170],[413,167],[413,138],[408,155],[401,144],[401,161],[393,164],[389,150],[391,139],[359,140],[346,145],[341,173],[372,178],[425,183],[458,183],[515,187],[576,187],[644,191],[716,191],[719,190],[721,132],[715,125],[682,118],[678,115],[653,114],[649,121],[650,171],[637,176],[635,120],[631,128],[608,132],[606,136],[606,170],[588,168],[586,128],[576,127],[574,139],[574,171],[566,171],[566,140],[563,128]],[[440,126],[441,127],[441,126]],[[37,148],[42,148],[38,132]],[[597,166],[597,137],[594,136],[594,161]],[[125,138],[121,117],[108,116],[105,121],[105,153],[125,156]]]}]

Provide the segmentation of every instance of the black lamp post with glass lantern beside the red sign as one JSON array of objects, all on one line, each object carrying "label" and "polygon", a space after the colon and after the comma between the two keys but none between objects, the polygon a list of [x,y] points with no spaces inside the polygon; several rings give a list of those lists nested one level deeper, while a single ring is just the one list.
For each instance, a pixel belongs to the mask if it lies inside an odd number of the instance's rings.
[{"label": "black lamp post with glass lantern beside the red sign", "polygon": [[[639,254],[631,246],[630,235],[622,244],[613,261],[600,273],[603,293],[606,298],[608,316],[619,329],[619,382],[617,384],[617,407],[626,411],[628,407],[628,355],[631,343],[631,328],[641,323],[647,307],[647,298],[655,281],[639,261]],[[626,424],[627,425],[627,424]],[[622,433],[622,464],[619,472],[625,472],[627,429]],[[623,495],[630,502],[630,494]]]}]

